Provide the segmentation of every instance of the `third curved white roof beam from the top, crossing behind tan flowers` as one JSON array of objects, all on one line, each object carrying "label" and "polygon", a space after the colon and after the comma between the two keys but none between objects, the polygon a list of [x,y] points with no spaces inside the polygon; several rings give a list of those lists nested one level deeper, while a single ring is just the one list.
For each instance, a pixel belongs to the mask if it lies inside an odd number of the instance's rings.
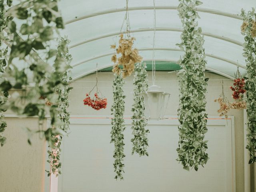
[{"label": "third curved white roof beam from the top, crossing behind tan flowers", "polygon": [[[153,49],[152,48],[142,48],[142,49],[138,49],[139,51],[152,51]],[[180,51],[182,52],[182,50],[180,49],[177,49],[177,48],[154,48],[154,50],[162,50],[162,51]],[[106,57],[106,56],[110,56],[110,55],[113,55],[113,54],[116,54],[116,52],[110,52],[110,53],[106,53],[106,54],[102,54],[102,55],[99,55],[99,56],[96,56],[96,57],[92,57],[92,58],[89,58],[89,59],[86,59],[86,60],[83,60],[81,62],[78,62],[76,64],[73,64],[72,67],[75,67],[75,66],[78,66],[80,64],[83,64],[83,63],[86,63],[88,61],[92,61],[94,59],[98,59],[98,58],[102,58],[102,57]],[[222,58],[222,57],[219,57],[219,56],[216,56],[216,55],[213,55],[213,54],[208,54],[206,53],[205,54],[206,56],[208,57],[211,57],[211,58],[215,58],[215,59],[218,59],[218,60],[222,60],[224,62],[228,62],[230,64],[233,64],[233,65],[236,65],[236,66],[239,66],[243,69],[246,70],[246,66],[238,63],[238,62],[234,62],[232,60],[229,60],[229,59],[226,59],[226,58]]]}]

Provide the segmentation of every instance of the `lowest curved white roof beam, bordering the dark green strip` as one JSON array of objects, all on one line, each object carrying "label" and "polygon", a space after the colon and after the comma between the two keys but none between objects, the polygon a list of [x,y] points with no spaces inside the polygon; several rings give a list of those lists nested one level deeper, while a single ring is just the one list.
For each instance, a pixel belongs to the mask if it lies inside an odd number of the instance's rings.
[{"label": "lowest curved white roof beam, bordering the dark green strip", "polygon": [[[159,60],[159,61],[160,61],[161,59],[156,59],[156,60]],[[143,61],[152,61],[152,60],[143,60]],[[169,59],[169,60],[164,59],[164,60],[162,60],[162,61],[166,61],[166,62],[177,62],[177,60],[170,60],[170,59]],[[111,67],[111,66],[113,66],[113,64],[108,64],[108,65],[102,66],[102,67],[100,67],[100,68],[97,68],[97,70],[102,70],[102,69],[105,69],[105,68],[108,68],[108,67]],[[218,75],[221,75],[221,76],[224,76],[224,77],[226,77],[226,78],[229,78],[229,79],[234,80],[234,77],[232,77],[232,76],[230,76],[230,75],[228,75],[228,74],[226,74],[226,73],[219,72],[219,71],[217,71],[217,70],[215,70],[215,69],[213,69],[213,68],[206,67],[205,69],[208,70],[208,71],[214,72],[214,73],[216,73],[216,74],[218,74]],[[78,76],[75,76],[75,77],[72,78],[71,82],[72,82],[72,81],[75,81],[75,80],[77,80],[77,79],[79,79],[79,78],[82,78],[82,77],[84,77],[84,76],[86,76],[86,75],[88,75],[88,74],[91,74],[91,73],[93,73],[93,72],[95,72],[95,71],[96,71],[96,68],[93,69],[93,70],[90,70],[90,71],[88,71],[88,72],[84,72],[84,73],[82,73],[82,74],[80,74],[80,75],[78,75]]]}]

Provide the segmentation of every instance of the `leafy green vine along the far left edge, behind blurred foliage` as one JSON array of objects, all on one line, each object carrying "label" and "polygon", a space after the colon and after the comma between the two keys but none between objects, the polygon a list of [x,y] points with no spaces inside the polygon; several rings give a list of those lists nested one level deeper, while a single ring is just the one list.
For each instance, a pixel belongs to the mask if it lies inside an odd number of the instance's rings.
[{"label": "leafy green vine along the far left edge, behind blurred foliage", "polygon": [[[5,3],[7,4],[5,6]],[[2,74],[5,72],[6,68],[6,60],[7,60],[7,52],[8,47],[4,46],[3,42],[8,41],[8,35],[4,33],[6,29],[7,22],[10,18],[6,18],[6,7],[10,7],[12,5],[12,1],[7,0],[0,0],[0,81],[4,81]],[[6,111],[4,104],[8,99],[8,92],[0,92],[0,145],[3,146],[6,143],[6,137],[4,137],[4,131],[7,127],[6,121],[4,120],[3,112]]]}]

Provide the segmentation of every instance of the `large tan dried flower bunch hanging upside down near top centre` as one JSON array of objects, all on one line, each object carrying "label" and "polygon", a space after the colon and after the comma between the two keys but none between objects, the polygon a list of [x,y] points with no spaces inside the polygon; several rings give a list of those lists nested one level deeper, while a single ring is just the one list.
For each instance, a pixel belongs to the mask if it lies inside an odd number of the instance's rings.
[{"label": "large tan dried flower bunch hanging upside down near top centre", "polygon": [[[120,74],[122,66],[122,76],[126,78],[130,76],[132,72],[134,72],[135,63],[140,63],[142,61],[142,57],[139,55],[137,49],[132,48],[133,42],[135,40],[132,38],[124,38],[123,34],[120,34],[119,46],[116,49],[117,54],[122,54],[119,58],[117,58],[116,54],[114,54],[111,58],[112,62],[114,62],[113,72],[116,74]],[[111,48],[116,48],[116,45],[111,45]]]}]

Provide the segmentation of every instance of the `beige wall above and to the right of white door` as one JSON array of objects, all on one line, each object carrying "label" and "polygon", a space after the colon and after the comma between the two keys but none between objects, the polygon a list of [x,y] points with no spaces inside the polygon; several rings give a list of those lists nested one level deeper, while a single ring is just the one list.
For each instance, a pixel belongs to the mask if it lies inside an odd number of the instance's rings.
[{"label": "beige wall above and to the right of white door", "polygon": [[[217,116],[219,105],[217,102],[214,102],[214,99],[222,92],[221,79],[224,80],[224,94],[226,97],[233,101],[232,91],[230,86],[233,84],[232,80],[228,80],[225,77],[211,74],[206,72],[206,77],[209,77],[208,88],[207,88],[207,105],[206,111],[208,115]],[[148,74],[149,85],[152,84],[152,74]],[[108,106],[106,109],[100,111],[93,110],[88,106],[83,105],[83,98],[85,94],[91,90],[91,88],[96,83],[96,74],[91,74],[80,78],[71,84],[74,89],[70,94],[70,112],[71,114],[80,114],[80,115],[109,115],[110,107],[112,104],[112,80],[113,74],[111,73],[100,73],[98,74],[98,85],[102,94],[108,98]],[[103,82],[104,81],[104,82]],[[125,99],[126,108],[125,115],[131,115],[131,106],[132,106],[132,92],[133,92],[133,77],[128,77],[125,79],[126,84],[124,85],[124,94],[127,96]],[[170,102],[168,104],[168,109],[166,115],[176,115],[179,105],[179,90],[178,90],[178,81],[176,74],[167,73],[167,72],[158,72],[156,74],[156,84],[164,88],[166,92],[171,93]],[[235,116],[235,140],[236,140],[236,191],[244,191],[244,124],[243,124],[243,110],[231,110],[229,115]]]}]

